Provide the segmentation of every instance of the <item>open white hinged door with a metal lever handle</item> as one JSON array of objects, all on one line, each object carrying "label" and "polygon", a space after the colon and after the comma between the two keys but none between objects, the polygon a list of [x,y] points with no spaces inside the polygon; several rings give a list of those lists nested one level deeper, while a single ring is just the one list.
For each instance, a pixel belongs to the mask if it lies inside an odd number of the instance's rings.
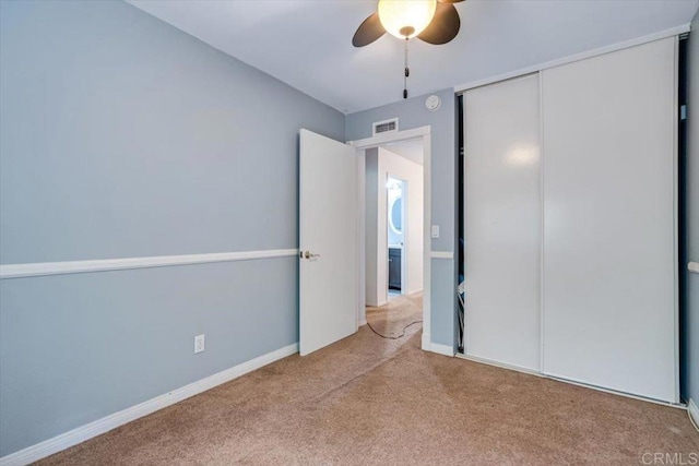
[{"label": "open white hinged door with a metal lever handle", "polygon": [[300,130],[299,353],[357,331],[356,150]]}]

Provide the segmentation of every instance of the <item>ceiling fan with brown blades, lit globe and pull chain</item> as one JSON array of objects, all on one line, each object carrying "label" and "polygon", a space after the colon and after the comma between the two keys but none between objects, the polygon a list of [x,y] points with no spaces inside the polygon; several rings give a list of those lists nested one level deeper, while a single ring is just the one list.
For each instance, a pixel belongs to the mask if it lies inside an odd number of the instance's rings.
[{"label": "ceiling fan with brown blades, lit globe and pull chain", "polygon": [[447,44],[459,34],[461,20],[452,3],[463,0],[379,0],[377,11],[359,25],[352,45],[364,47],[389,33],[405,39],[403,98],[407,98],[407,41],[417,37],[428,44]]}]

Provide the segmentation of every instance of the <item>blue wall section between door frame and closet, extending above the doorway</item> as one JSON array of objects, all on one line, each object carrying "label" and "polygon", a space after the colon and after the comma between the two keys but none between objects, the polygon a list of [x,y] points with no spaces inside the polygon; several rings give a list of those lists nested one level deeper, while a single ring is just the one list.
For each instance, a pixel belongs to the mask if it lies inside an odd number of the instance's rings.
[{"label": "blue wall section between door frame and closet, extending above the doorway", "polygon": [[[400,88],[396,88],[400,93]],[[399,129],[431,127],[431,224],[439,225],[440,237],[431,240],[433,251],[455,251],[455,98],[452,89],[436,93],[441,97],[437,111],[425,108],[425,98],[407,100],[347,115],[347,141],[371,136],[371,123],[399,117]],[[454,346],[454,261],[431,261],[431,335],[434,343]]]}]

